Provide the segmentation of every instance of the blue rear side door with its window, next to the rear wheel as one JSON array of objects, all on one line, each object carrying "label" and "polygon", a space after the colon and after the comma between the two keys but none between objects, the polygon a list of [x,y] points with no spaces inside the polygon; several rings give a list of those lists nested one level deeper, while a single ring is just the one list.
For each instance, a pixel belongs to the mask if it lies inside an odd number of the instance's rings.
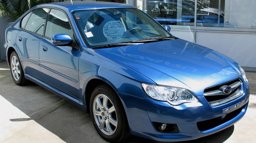
[{"label": "blue rear side door with its window, next to the rear wheel", "polygon": [[25,73],[40,80],[42,75],[39,66],[39,42],[48,11],[49,8],[38,8],[28,13],[21,21],[21,31],[16,39]]}]

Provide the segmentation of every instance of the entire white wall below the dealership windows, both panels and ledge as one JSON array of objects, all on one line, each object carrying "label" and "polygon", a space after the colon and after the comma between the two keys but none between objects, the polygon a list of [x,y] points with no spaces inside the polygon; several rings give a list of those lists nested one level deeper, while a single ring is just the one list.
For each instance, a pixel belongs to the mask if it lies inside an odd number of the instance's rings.
[{"label": "entire white wall below the dealership windows, both panels and ledge", "polygon": [[[171,29],[171,33],[181,39],[195,42],[231,57],[247,71],[256,71],[256,33],[233,31],[195,32]],[[195,33],[195,34],[194,34]],[[194,40],[195,39],[195,40]]]}]

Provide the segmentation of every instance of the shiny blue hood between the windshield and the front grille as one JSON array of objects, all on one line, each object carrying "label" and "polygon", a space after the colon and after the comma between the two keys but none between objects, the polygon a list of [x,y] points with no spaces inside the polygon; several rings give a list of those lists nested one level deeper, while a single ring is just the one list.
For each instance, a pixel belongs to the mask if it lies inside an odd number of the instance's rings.
[{"label": "shiny blue hood between the windshield and the front grille", "polygon": [[152,83],[193,92],[239,77],[233,60],[181,39],[95,50],[138,71]]}]

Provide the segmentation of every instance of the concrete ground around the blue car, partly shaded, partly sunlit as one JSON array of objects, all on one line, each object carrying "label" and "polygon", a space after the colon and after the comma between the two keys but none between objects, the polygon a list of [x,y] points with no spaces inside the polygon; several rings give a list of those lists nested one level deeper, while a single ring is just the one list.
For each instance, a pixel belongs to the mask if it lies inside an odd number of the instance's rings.
[{"label": "concrete ground around the blue car, partly shaded, partly sunlit", "polygon": [[[256,72],[246,72],[250,82],[249,107],[233,126],[182,143],[252,143],[256,141]],[[31,83],[17,86],[6,61],[0,62],[0,143],[105,143],[90,115],[48,90]],[[152,142],[131,136],[126,143]]]}]

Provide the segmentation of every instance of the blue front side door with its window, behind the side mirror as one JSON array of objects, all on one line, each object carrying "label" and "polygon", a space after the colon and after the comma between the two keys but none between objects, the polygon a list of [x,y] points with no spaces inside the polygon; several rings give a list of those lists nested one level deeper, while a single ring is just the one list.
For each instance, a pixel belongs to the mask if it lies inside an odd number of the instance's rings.
[{"label": "blue front side door with its window, behind the side mirror", "polygon": [[78,61],[81,51],[72,46],[52,45],[51,38],[54,34],[68,34],[74,37],[66,14],[57,9],[51,9],[45,36],[39,44],[43,80],[66,94],[78,97]]}]

